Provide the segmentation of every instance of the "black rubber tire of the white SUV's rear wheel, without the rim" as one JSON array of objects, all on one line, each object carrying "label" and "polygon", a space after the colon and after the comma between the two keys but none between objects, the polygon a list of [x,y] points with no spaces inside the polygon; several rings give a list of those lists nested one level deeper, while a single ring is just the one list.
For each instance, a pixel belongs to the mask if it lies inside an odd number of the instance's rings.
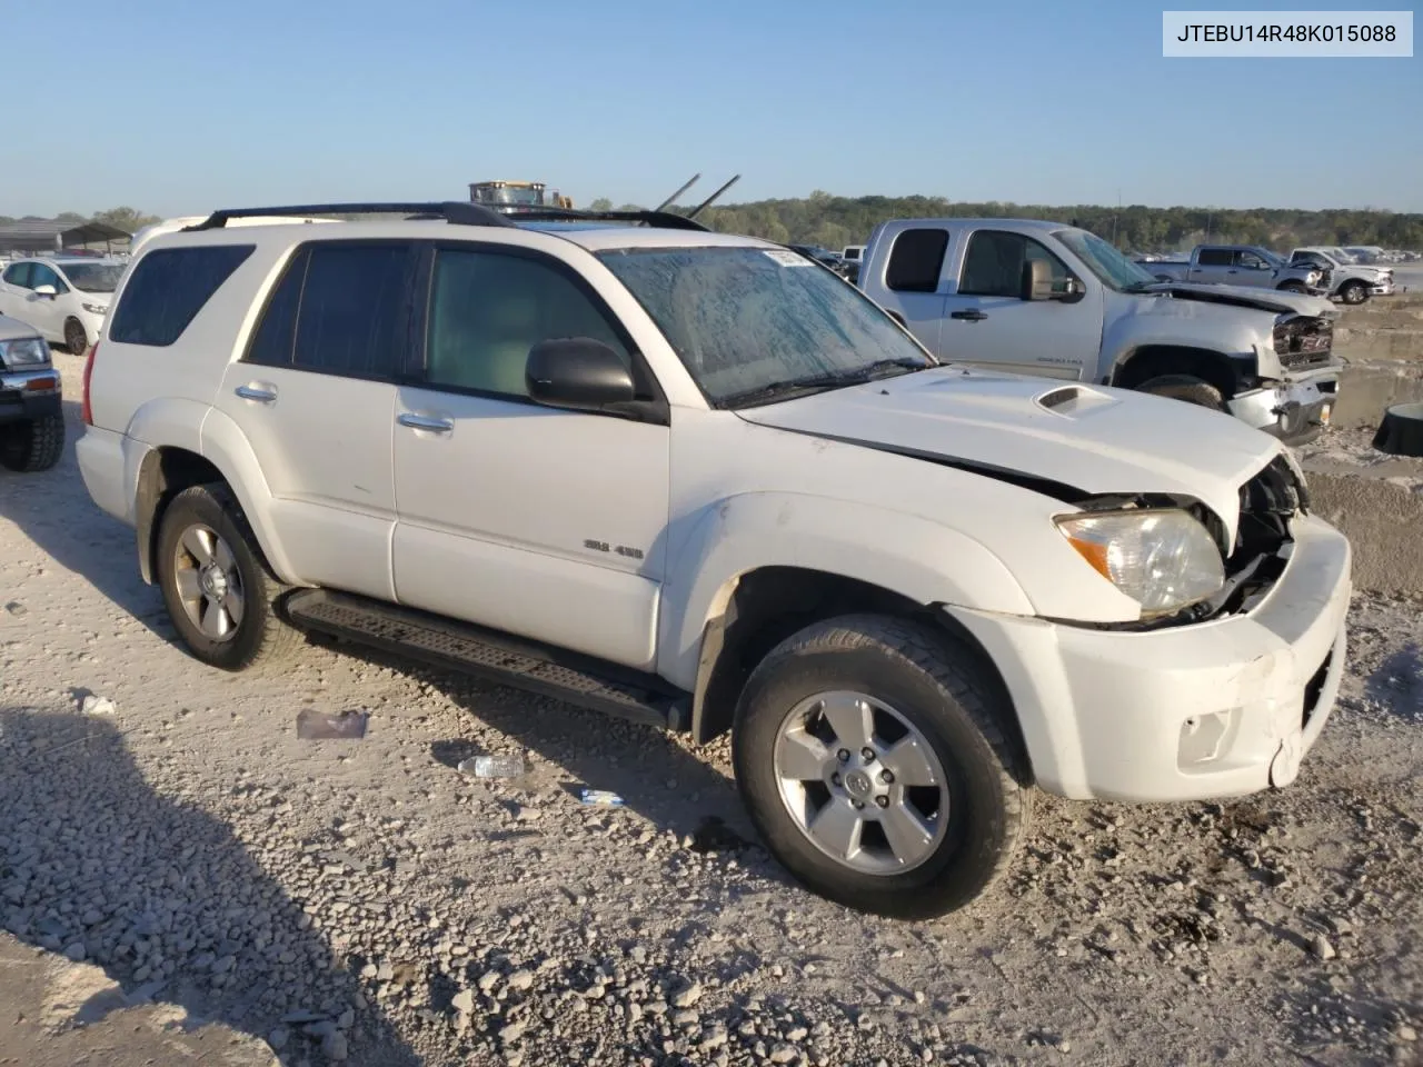
[{"label": "black rubber tire of the white SUV's rear wheel, without the rim", "polygon": [[[229,640],[215,642],[203,635],[188,617],[178,595],[178,541],[194,524],[208,526],[226,542],[242,578],[245,609]],[[302,632],[283,622],[276,612],[275,602],[289,586],[272,573],[242,508],[221,482],[184,489],[164,509],[157,575],[174,627],[189,652],[208,666],[236,671],[259,663],[277,663],[305,643]]]}]

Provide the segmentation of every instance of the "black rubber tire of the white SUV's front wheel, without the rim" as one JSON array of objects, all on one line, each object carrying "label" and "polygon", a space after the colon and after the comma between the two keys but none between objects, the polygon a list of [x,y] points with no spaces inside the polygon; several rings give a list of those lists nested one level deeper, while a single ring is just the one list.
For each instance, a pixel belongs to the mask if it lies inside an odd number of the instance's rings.
[{"label": "black rubber tire of the white SUV's front wheel, without the rim", "polygon": [[[817,693],[874,696],[909,718],[948,780],[949,819],[935,851],[904,874],[867,874],[805,837],[781,801],[774,765],[785,716]],[[781,642],[741,693],[731,733],[736,780],[770,851],[811,891],[865,912],[943,915],[985,892],[1010,865],[1030,821],[1026,753],[1013,708],[975,656],[912,622],[830,619]]]}]

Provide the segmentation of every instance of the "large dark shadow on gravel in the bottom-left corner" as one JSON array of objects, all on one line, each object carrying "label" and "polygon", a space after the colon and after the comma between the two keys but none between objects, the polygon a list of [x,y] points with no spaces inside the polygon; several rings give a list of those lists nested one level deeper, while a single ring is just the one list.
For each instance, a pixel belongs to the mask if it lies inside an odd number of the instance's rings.
[{"label": "large dark shadow on gravel in the bottom-left corner", "polygon": [[[111,721],[0,710],[0,920],[104,967],[128,1003],[176,1003],[189,1026],[263,1040],[287,1017],[285,1054],[313,1061],[359,1009],[356,977],[302,908],[223,822],[149,788]],[[420,1063],[374,1004],[344,1033],[353,1063]]]}]

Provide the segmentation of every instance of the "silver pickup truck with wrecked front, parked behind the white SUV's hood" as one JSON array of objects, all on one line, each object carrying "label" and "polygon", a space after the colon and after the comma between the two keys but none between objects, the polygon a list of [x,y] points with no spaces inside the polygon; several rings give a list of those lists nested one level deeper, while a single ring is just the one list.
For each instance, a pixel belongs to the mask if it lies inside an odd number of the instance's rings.
[{"label": "silver pickup truck with wrecked front, parked behind the white SUV's hood", "polygon": [[1289,444],[1318,437],[1338,393],[1328,300],[1158,282],[1056,222],[884,222],[858,285],[939,359],[1175,397]]}]

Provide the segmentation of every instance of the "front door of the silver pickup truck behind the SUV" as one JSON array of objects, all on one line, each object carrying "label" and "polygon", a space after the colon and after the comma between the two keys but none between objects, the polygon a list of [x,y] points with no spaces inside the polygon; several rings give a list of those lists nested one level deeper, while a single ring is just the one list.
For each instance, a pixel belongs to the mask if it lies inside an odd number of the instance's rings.
[{"label": "front door of the silver pickup truck behind the SUV", "polygon": [[1052,267],[1053,290],[1064,292],[1074,275],[1039,240],[992,229],[969,235],[958,289],[945,299],[943,359],[1049,378],[1096,373],[1101,286],[1077,279],[1081,296],[1025,300],[1023,266],[1033,259]]}]

